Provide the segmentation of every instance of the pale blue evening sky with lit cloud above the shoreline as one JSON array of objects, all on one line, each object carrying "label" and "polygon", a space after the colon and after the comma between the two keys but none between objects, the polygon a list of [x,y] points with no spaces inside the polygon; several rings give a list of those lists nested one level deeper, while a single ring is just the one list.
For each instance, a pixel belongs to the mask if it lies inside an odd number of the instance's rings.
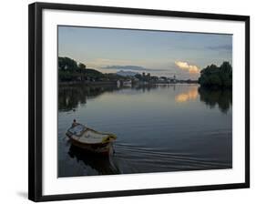
[{"label": "pale blue evening sky with lit cloud above the shoreline", "polygon": [[58,26],[58,56],[103,73],[119,70],[198,79],[200,70],[232,64],[232,36],[153,30]]}]

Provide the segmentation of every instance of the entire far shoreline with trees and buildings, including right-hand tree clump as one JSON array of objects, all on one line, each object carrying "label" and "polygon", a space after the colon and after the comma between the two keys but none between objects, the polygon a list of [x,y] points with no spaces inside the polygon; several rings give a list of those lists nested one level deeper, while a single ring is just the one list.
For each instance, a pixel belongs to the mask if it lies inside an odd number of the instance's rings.
[{"label": "entire far shoreline with trees and buildings, including right-hand tree clump", "polygon": [[87,68],[85,64],[77,63],[67,56],[58,56],[58,84],[87,86],[129,85],[129,84],[200,84],[205,88],[232,87],[232,67],[229,62],[221,66],[210,65],[200,71],[199,80],[177,79],[176,76],[151,76],[143,72],[134,76],[121,76],[118,73],[101,73],[95,69]]}]

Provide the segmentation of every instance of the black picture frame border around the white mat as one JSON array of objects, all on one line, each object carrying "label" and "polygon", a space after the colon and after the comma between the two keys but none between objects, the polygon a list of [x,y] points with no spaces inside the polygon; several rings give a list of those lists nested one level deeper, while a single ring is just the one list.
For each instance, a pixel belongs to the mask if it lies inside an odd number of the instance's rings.
[{"label": "black picture frame border around the white mat", "polygon": [[[245,182],[221,185],[189,186],[162,189],[132,189],[64,195],[42,195],[42,11],[57,9],[68,11],[91,11],[128,15],[159,15],[187,17],[198,19],[231,20],[245,22]],[[51,3],[34,3],[29,5],[28,16],[28,66],[29,66],[29,141],[28,141],[28,199],[34,201],[91,199],[105,197],[134,196],[187,191],[242,189],[250,187],[250,16],[220,15],[167,10],[149,10],[125,7],[108,7],[94,5],[67,5]]]}]

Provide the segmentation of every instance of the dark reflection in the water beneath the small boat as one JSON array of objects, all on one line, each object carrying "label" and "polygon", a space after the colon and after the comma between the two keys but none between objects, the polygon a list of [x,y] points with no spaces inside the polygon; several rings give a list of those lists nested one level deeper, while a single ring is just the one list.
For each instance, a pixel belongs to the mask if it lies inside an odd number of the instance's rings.
[{"label": "dark reflection in the water beneath the small boat", "polygon": [[[86,166],[97,171],[99,175],[120,174],[120,170],[113,162],[113,156],[93,154],[73,145],[70,146],[68,155],[70,158],[77,158],[77,162],[84,162]],[[91,174],[95,175],[95,172],[91,172]]]}]

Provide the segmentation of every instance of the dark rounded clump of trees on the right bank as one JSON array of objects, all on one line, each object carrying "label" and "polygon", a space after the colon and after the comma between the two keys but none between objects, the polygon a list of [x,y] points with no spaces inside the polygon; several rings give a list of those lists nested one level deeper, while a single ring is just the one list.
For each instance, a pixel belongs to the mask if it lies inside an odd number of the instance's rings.
[{"label": "dark rounded clump of trees on the right bank", "polygon": [[207,66],[200,71],[199,83],[202,87],[232,87],[232,66],[229,62]]}]

